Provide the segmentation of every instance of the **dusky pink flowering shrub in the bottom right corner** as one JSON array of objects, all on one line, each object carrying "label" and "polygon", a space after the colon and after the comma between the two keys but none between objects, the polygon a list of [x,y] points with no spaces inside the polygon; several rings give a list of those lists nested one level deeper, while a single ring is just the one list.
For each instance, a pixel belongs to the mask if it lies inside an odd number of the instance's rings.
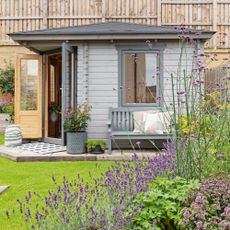
[{"label": "dusky pink flowering shrub in the bottom right corner", "polygon": [[188,229],[230,229],[230,180],[209,178],[187,199],[180,224]]}]

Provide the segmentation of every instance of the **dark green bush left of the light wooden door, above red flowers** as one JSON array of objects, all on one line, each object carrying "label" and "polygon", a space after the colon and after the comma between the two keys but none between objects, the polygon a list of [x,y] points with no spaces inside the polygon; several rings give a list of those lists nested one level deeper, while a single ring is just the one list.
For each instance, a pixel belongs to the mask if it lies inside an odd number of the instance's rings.
[{"label": "dark green bush left of the light wooden door, above red flowers", "polygon": [[14,67],[11,63],[0,69],[0,89],[3,95],[14,95]]}]

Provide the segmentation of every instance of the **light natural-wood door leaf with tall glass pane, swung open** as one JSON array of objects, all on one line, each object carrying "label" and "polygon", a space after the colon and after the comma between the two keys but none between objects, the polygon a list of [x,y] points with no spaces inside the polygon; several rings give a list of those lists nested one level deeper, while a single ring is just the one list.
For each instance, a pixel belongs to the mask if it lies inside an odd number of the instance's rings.
[{"label": "light natural-wood door leaf with tall glass pane, swung open", "polygon": [[15,68],[15,123],[23,138],[42,137],[41,56],[17,56]]}]

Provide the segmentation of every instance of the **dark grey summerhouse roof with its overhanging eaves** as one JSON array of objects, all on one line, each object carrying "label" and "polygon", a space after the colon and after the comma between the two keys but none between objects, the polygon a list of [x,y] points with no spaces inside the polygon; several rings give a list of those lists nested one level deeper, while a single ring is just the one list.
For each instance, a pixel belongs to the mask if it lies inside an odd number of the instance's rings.
[{"label": "dark grey summerhouse roof with its overhanging eaves", "polygon": [[[183,35],[182,31],[182,35]],[[185,36],[202,42],[210,39],[214,31],[186,30]],[[181,31],[172,27],[154,26],[135,23],[98,23],[82,26],[53,28],[36,31],[8,34],[15,42],[44,52],[63,42],[78,43],[81,41],[146,41],[146,40],[179,40]],[[41,48],[43,46],[43,48]]]}]

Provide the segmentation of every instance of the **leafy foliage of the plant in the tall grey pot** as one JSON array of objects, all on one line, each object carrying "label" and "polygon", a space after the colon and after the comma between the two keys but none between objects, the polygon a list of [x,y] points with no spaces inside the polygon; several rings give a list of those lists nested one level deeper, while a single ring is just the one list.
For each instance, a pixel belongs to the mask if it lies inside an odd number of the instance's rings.
[{"label": "leafy foliage of the plant in the tall grey pot", "polygon": [[77,110],[65,113],[64,130],[66,132],[85,131],[90,120],[91,106],[79,105]]}]

